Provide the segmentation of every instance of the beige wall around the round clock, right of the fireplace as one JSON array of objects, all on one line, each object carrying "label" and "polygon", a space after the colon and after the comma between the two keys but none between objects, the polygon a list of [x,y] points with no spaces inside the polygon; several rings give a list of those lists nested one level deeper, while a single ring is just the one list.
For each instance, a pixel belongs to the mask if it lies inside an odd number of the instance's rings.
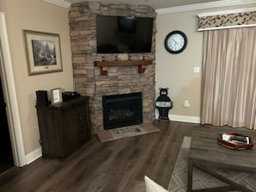
[{"label": "beige wall around the round clock, right of the fireplace", "polygon": [[[197,32],[197,14],[251,7],[255,7],[255,3],[157,15],[156,96],[159,96],[159,87],[169,88],[174,102],[171,115],[200,116],[203,32]],[[171,54],[165,50],[165,36],[172,30],[181,30],[187,35],[188,45],[183,53]],[[200,73],[193,72],[194,66],[200,67]],[[183,107],[185,99],[190,102],[189,108]]]}]

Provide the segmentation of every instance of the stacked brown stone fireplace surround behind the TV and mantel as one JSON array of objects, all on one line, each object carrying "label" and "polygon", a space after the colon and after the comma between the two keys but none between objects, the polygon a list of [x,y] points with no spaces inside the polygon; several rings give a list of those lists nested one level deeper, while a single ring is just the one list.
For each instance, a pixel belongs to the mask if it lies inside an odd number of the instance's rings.
[{"label": "stacked brown stone fireplace surround behind the TV and mantel", "polygon": [[[144,73],[138,66],[111,66],[102,76],[94,61],[128,59],[128,54],[97,54],[97,15],[134,15],[153,17],[152,53],[129,54],[132,60],[153,60]],[[103,130],[102,96],[142,92],[143,122],[154,120],[155,99],[155,18],[154,10],[144,5],[84,2],[72,4],[69,12],[74,87],[81,95],[90,96],[92,133]]]}]

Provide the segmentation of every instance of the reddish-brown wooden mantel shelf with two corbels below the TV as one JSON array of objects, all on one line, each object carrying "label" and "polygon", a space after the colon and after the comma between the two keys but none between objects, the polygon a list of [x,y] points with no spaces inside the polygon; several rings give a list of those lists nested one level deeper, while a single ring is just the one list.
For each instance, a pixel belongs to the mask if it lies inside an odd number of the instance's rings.
[{"label": "reddish-brown wooden mantel shelf with two corbels below the TV", "polygon": [[152,60],[113,60],[113,61],[95,61],[94,65],[101,68],[101,75],[107,75],[109,66],[131,66],[138,65],[139,73],[146,70],[146,65],[152,64]]}]

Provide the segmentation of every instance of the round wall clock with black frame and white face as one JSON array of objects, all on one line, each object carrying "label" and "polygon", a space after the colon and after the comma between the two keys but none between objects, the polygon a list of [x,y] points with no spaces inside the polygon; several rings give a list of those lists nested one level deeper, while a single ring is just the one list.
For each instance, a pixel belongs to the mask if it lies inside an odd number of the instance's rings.
[{"label": "round wall clock with black frame and white face", "polygon": [[181,31],[172,31],[165,37],[165,49],[169,53],[177,54],[183,52],[187,43],[187,37]]}]

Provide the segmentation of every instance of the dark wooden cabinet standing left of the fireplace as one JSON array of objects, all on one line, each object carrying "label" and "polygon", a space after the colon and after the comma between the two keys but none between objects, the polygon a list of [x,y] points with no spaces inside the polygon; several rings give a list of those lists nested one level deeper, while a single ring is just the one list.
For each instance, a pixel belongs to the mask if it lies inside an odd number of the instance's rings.
[{"label": "dark wooden cabinet standing left of the fireplace", "polygon": [[89,96],[36,109],[43,157],[66,158],[91,139]]}]

